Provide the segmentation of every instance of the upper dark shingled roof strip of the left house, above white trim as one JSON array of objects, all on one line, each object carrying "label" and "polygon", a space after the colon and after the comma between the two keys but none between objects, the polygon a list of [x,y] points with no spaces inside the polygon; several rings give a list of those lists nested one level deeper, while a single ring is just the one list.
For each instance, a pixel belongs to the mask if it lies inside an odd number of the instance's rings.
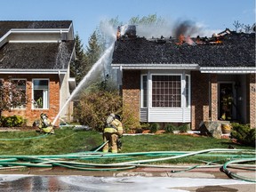
[{"label": "upper dark shingled roof strip of the left house, above white trim", "polygon": [[72,20],[0,20],[0,38],[12,28],[69,28]]}]

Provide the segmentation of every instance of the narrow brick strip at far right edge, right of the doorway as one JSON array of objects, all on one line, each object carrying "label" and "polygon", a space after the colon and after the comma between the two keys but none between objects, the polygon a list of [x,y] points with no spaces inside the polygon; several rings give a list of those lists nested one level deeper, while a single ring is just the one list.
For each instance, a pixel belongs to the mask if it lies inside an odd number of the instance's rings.
[{"label": "narrow brick strip at far right edge, right of the doorway", "polygon": [[247,90],[249,91],[247,108],[249,110],[251,128],[256,128],[256,74],[247,75]]}]

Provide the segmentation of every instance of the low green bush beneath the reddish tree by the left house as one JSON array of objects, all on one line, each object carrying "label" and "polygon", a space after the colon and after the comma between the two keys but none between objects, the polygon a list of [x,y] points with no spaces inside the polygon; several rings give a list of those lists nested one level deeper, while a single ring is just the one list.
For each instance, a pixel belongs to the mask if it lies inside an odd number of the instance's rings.
[{"label": "low green bush beneath the reddish tree by the left house", "polygon": [[22,116],[2,116],[1,125],[3,127],[20,127],[26,123],[26,120]]}]

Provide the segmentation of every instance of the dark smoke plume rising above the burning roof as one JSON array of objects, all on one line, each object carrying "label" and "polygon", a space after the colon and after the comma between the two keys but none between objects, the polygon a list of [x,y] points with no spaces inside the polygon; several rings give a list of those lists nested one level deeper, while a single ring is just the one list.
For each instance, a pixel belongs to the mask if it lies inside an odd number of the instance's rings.
[{"label": "dark smoke plume rising above the burning roof", "polygon": [[196,26],[196,23],[191,20],[177,21],[174,25],[172,34],[174,37],[179,37],[181,34],[183,36],[192,36],[200,32],[200,28]]}]

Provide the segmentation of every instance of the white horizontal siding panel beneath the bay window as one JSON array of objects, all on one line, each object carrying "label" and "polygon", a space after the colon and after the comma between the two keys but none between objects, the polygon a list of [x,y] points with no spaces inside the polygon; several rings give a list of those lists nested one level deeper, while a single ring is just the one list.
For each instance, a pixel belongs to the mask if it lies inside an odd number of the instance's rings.
[{"label": "white horizontal siding panel beneath the bay window", "polygon": [[190,108],[150,108],[149,122],[190,122]]}]

